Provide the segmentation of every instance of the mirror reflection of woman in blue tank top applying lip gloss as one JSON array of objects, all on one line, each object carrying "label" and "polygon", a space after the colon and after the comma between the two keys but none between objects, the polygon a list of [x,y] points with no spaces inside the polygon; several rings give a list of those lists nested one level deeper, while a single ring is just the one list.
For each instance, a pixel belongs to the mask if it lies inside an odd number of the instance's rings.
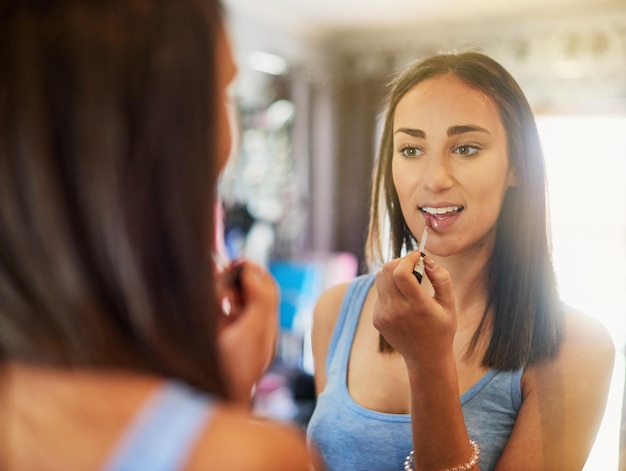
[{"label": "mirror reflection of woman in blue tank top applying lip gloss", "polygon": [[399,75],[386,110],[367,245],[382,268],[316,306],[310,441],[337,471],[581,469],[614,348],[559,300],[522,91],[481,53],[443,54]]}]

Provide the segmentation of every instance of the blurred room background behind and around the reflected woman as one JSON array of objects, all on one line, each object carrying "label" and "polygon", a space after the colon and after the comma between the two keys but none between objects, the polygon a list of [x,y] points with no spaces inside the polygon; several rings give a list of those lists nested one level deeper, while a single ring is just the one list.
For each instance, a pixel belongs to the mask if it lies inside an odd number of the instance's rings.
[{"label": "blurred room background behind and around the reflected woman", "polygon": [[[281,342],[260,413],[306,426],[309,331],[326,287],[363,273],[385,86],[436,51],[482,50],[518,80],[547,162],[565,302],[618,351],[586,470],[619,465],[626,342],[626,0],[225,0],[241,141],[221,181],[231,257],[281,288]],[[624,450],[624,447],[621,447]]]}]

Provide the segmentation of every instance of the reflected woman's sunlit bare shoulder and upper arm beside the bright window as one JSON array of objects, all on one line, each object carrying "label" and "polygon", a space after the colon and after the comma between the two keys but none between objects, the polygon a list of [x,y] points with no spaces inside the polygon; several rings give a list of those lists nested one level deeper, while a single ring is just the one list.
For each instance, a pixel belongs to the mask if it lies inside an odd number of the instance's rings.
[{"label": "reflected woman's sunlit bare shoulder and upper arm beside the bright window", "polygon": [[524,401],[498,466],[581,469],[604,414],[614,360],[607,328],[568,309],[557,356],[524,371]]}]

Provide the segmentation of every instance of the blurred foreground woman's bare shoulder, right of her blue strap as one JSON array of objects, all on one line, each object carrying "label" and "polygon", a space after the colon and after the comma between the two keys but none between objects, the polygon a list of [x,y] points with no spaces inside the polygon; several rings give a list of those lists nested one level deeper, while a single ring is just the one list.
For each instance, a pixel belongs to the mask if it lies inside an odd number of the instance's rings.
[{"label": "blurred foreground woman's bare shoulder, right of her blue strap", "polygon": [[186,469],[310,471],[313,463],[299,428],[253,417],[235,406],[219,405]]}]

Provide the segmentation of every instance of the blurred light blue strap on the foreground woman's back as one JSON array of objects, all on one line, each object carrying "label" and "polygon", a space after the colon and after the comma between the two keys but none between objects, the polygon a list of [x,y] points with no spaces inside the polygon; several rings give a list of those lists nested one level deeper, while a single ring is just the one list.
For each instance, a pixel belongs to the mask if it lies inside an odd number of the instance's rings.
[{"label": "blurred light blue strap on the foreground woman's back", "polygon": [[103,471],[181,469],[210,419],[212,399],[176,381],[144,404]]}]

